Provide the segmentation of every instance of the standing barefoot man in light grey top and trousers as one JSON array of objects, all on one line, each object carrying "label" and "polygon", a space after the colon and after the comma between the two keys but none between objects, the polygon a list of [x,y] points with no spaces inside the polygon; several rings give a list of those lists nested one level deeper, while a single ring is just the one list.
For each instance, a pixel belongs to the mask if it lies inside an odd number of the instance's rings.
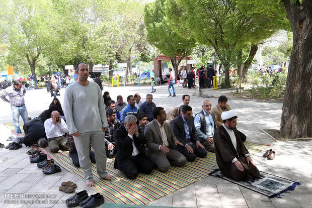
[{"label": "standing barefoot man in light grey top and trousers", "polygon": [[95,152],[97,173],[102,179],[112,179],[106,170],[104,132],[108,127],[107,118],[99,85],[88,81],[88,66],[85,63],[77,63],[75,73],[78,80],[66,87],[64,113],[86,184],[93,186],[92,164],[89,157],[90,142]]}]

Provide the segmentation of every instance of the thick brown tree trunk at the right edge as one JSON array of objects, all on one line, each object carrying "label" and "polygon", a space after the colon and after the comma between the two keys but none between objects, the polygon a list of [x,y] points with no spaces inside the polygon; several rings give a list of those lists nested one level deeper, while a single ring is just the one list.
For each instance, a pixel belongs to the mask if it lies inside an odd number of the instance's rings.
[{"label": "thick brown tree trunk at the right edge", "polygon": [[283,2],[293,32],[293,48],[280,130],[284,137],[312,137],[312,2]]}]

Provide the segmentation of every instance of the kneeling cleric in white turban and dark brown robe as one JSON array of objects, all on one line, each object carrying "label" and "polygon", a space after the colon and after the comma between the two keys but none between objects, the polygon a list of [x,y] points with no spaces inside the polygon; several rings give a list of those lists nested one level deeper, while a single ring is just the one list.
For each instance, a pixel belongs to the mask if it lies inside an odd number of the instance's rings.
[{"label": "kneeling cleric in white turban and dark brown robe", "polygon": [[223,124],[216,129],[213,140],[217,164],[221,173],[234,180],[258,177],[259,170],[235,128],[237,113],[234,110],[221,114]]}]

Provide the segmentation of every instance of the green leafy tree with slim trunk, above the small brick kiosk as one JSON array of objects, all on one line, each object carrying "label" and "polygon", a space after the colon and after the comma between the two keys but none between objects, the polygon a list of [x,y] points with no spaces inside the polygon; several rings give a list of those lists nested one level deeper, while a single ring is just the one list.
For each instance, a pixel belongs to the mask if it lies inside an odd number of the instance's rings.
[{"label": "green leafy tree with slim trunk, above the small brick kiosk", "polygon": [[177,75],[180,62],[191,54],[196,41],[193,37],[182,37],[173,29],[165,13],[165,1],[156,0],[146,4],[144,22],[149,43],[170,57]]}]

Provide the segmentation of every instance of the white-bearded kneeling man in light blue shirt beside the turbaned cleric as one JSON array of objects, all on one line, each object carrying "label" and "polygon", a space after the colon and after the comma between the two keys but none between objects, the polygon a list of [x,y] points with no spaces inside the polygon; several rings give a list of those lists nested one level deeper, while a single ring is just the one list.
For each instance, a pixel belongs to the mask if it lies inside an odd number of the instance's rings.
[{"label": "white-bearded kneeling man in light blue shirt beside the turbaned cleric", "polygon": [[217,125],[214,120],[214,113],[211,112],[211,102],[208,99],[204,99],[201,102],[201,107],[203,110],[196,114],[194,125],[200,143],[207,151],[214,152],[213,135]]}]

